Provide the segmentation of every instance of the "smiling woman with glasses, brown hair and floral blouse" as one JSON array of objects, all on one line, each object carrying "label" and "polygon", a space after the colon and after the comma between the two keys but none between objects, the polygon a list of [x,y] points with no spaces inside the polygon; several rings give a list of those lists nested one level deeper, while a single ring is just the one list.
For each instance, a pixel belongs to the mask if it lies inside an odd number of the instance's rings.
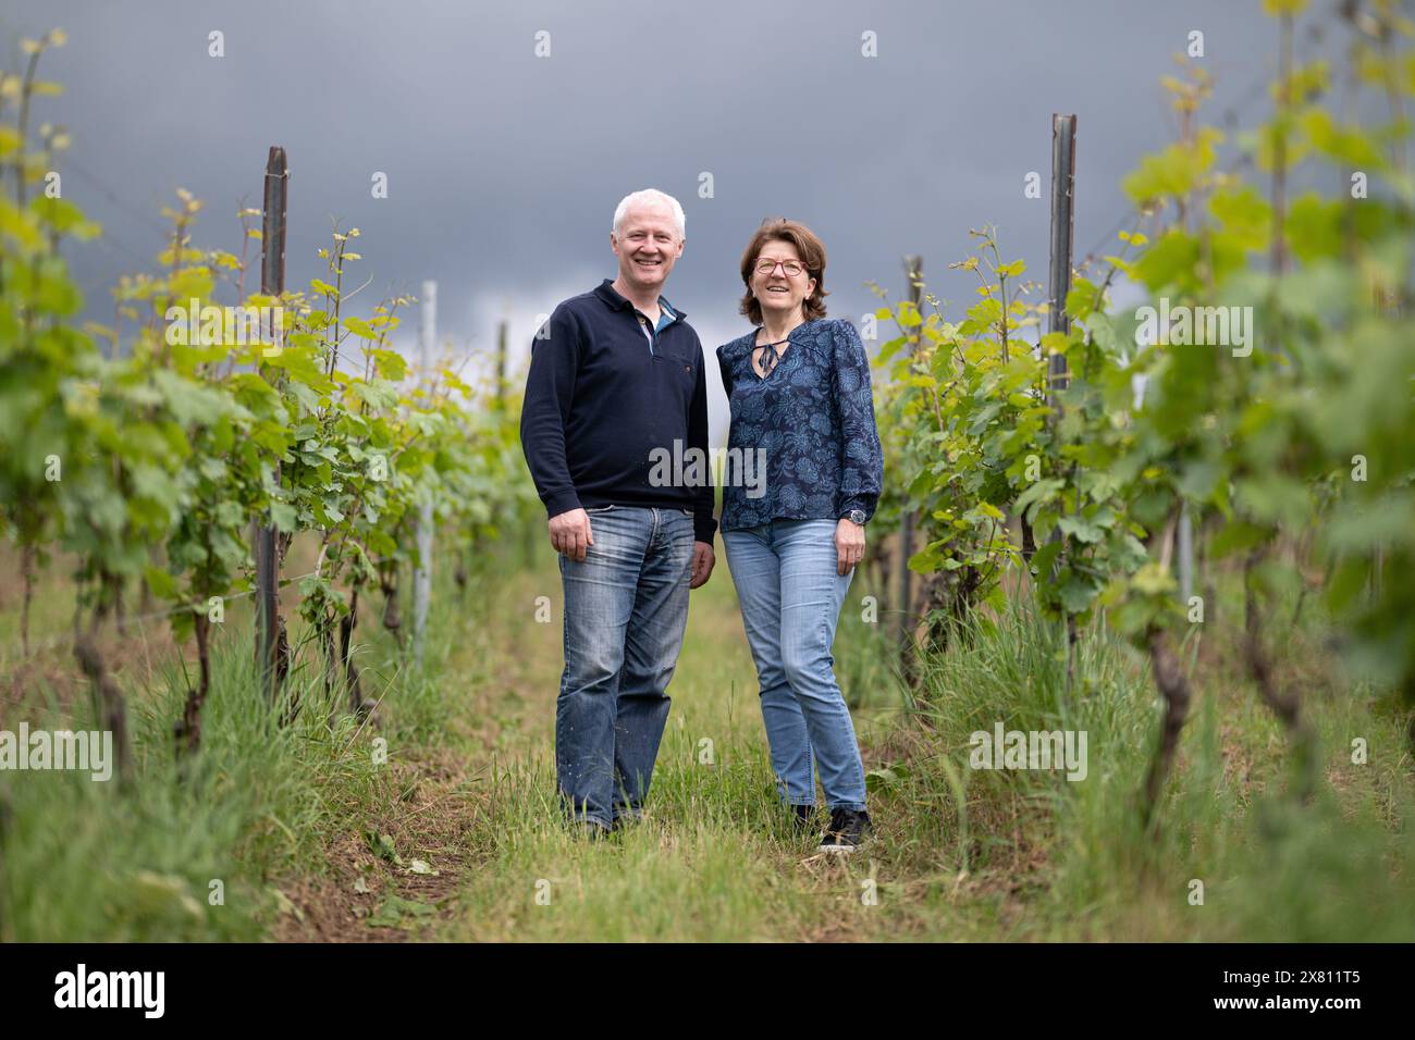
[{"label": "smiling woman with glasses, brown hair and floral blouse", "polygon": [[741,280],[754,328],[717,348],[737,464],[723,478],[722,541],[781,798],[809,826],[818,771],[831,811],[821,850],[852,852],[870,816],[831,644],[883,481],[870,365],[855,327],[825,317],[825,245],[804,225],[763,224]]}]

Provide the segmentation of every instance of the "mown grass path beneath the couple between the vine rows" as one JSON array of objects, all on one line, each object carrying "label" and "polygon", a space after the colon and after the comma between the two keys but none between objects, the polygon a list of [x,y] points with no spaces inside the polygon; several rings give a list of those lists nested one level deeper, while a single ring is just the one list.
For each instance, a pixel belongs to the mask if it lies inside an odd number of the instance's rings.
[{"label": "mown grass path beneath the couple between the vine rows", "polygon": [[[838,940],[899,924],[887,903],[904,889],[882,857],[887,819],[873,850],[828,857],[777,814],[724,563],[692,594],[647,819],[601,843],[572,838],[555,804],[559,580],[549,569],[518,573],[488,593],[490,623],[466,632],[449,666],[456,676],[480,662],[488,682],[470,713],[480,768],[468,863],[433,938]],[[535,621],[538,596],[555,604],[549,623]],[[856,724],[869,746],[880,724],[867,712]]]}]

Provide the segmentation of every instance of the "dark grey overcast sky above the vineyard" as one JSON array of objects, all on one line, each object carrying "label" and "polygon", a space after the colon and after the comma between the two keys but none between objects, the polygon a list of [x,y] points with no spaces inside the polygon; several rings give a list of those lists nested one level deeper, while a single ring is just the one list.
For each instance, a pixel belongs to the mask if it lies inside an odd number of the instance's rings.
[{"label": "dark grey overcast sky above the vineyard", "polygon": [[1077,256],[1108,250],[1119,178],[1173,137],[1159,76],[1189,33],[1204,34],[1215,122],[1237,108],[1247,125],[1276,40],[1258,0],[6,0],[6,68],[54,25],[69,41],[44,76],[65,93],[35,119],[71,130],[64,195],[106,229],[72,250],[95,317],[120,272],[151,266],[178,187],[207,202],[195,242],[239,250],[236,208],[259,207],[282,144],[287,286],[323,275],[337,218],[362,232],[351,267],[374,277],[369,304],[436,279],[441,337],[485,351],[505,313],[518,364],[536,314],[614,276],[613,211],[642,187],[688,214],[665,296],[709,361],[747,331],[737,262],[768,215],[822,236],[829,310],[856,323],[877,306],[866,282],[899,291],[904,253],[966,301],[947,265],[983,222],[1044,282],[1049,202],[1023,184],[1050,177],[1051,113],[1078,117]]}]

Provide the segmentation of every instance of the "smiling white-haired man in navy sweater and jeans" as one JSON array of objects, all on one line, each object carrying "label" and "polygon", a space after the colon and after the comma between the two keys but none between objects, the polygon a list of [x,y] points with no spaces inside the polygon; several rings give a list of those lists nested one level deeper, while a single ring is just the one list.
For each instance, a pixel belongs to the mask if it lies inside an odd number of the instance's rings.
[{"label": "smiling white-haired man in navy sweater and jeans", "polygon": [[618,277],[558,306],[536,333],[521,412],[565,589],[556,775],[591,836],[641,812],[688,590],[713,569],[710,481],[664,480],[655,466],[665,453],[708,454],[702,344],[661,294],[683,255],[683,224],[661,191],[618,204]]}]

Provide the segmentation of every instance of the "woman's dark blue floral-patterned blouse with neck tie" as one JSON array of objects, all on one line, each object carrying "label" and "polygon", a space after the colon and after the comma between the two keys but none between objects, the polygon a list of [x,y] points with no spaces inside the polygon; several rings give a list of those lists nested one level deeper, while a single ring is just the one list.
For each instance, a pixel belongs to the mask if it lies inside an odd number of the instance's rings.
[{"label": "woman's dark blue floral-patterned blouse with neck tie", "polygon": [[756,340],[753,328],[717,348],[732,406],[722,529],[773,519],[841,519],[852,509],[869,519],[884,457],[860,334],[846,318],[797,325],[766,378],[751,365]]}]

